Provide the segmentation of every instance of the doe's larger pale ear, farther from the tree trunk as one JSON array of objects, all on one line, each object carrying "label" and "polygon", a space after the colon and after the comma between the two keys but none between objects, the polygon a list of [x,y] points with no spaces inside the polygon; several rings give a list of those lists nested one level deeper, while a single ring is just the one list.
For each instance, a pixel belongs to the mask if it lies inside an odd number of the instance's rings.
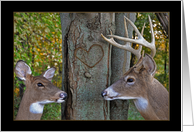
[{"label": "doe's larger pale ear, farther from the tree trunk", "polygon": [[21,80],[26,80],[27,74],[32,74],[32,71],[24,61],[19,60],[15,66],[15,73]]}]

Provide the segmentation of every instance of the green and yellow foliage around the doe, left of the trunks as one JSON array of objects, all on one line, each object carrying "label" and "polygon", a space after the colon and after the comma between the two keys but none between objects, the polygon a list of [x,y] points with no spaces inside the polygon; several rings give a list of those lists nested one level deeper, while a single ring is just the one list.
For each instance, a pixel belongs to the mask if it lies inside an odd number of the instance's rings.
[{"label": "green and yellow foliage around the doe, left of the trunks", "polygon": [[[59,13],[14,13],[14,66],[24,60],[33,76],[55,66],[53,84],[62,87],[62,32]],[[19,84],[14,74],[14,116],[20,103]],[[24,88],[25,90],[25,88]],[[61,105],[45,105],[42,119],[59,120]]]}]

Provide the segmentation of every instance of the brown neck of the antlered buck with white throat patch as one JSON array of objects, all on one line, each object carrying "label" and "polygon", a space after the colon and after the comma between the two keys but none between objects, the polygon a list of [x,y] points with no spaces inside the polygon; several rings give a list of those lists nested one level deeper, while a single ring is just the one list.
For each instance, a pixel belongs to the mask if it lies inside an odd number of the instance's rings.
[{"label": "brown neck of the antlered buck with white throat patch", "polygon": [[168,91],[156,79],[150,84],[145,84],[145,87],[145,95],[134,100],[138,111],[147,120],[167,120]]}]

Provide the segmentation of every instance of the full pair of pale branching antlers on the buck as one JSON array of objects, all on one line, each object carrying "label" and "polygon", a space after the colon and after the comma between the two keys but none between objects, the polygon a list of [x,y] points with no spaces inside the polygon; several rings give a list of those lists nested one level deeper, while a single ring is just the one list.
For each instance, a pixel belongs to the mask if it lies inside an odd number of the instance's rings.
[{"label": "full pair of pale branching antlers on the buck", "polygon": [[[118,47],[120,49],[124,49],[124,50],[132,52],[134,55],[137,56],[138,59],[141,57],[142,45],[147,47],[147,48],[149,48],[149,49],[151,49],[151,56],[154,57],[155,54],[156,54],[155,37],[154,37],[154,32],[153,32],[153,27],[152,27],[152,22],[151,22],[150,16],[148,16],[148,18],[149,18],[150,30],[151,30],[151,43],[149,43],[148,41],[146,41],[143,38],[144,27],[142,28],[142,32],[140,33],[139,30],[137,29],[137,27],[133,24],[133,22],[131,20],[129,20],[127,17],[125,17],[125,16],[124,16],[125,37],[120,37],[120,36],[112,35],[111,31],[110,31],[111,35],[108,35],[110,37],[110,39],[104,37],[103,34],[101,34],[101,36],[103,37],[104,40],[106,40],[110,44],[112,44],[112,45],[114,45],[114,46],[116,46],[116,47]],[[126,20],[134,28],[135,32],[138,35],[138,39],[130,39],[130,38],[128,38]],[[144,23],[144,26],[145,26],[145,23]],[[119,40],[123,40],[123,41],[125,41],[125,44],[124,45],[118,44],[117,42],[114,41],[113,38],[116,38],[116,39],[119,39]],[[137,50],[133,49],[129,42],[139,44],[140,46],[139,46],[139,48]]]}]

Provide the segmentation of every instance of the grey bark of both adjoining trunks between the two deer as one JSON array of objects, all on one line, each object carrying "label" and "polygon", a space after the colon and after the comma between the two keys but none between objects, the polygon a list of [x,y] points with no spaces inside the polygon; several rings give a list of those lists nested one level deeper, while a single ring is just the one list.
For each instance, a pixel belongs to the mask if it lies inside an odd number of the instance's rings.
[{"label": "grey bark of both adjoining trunks between the two deer", "polygon": [[[63,40],[62,89],[68,94],[61,108],[62,119],[127,119],[128,100],[106,101],[101,97],[102,90],[129,69],[130,53],[112,47],[101,37],[101,33],[107,36],[110,30],[113,34],[125,36],[123,15],[135,21],[135,13],[60,14]],[[132,37],[132,32],[133,28],[129,25],[129,37]]]}]

